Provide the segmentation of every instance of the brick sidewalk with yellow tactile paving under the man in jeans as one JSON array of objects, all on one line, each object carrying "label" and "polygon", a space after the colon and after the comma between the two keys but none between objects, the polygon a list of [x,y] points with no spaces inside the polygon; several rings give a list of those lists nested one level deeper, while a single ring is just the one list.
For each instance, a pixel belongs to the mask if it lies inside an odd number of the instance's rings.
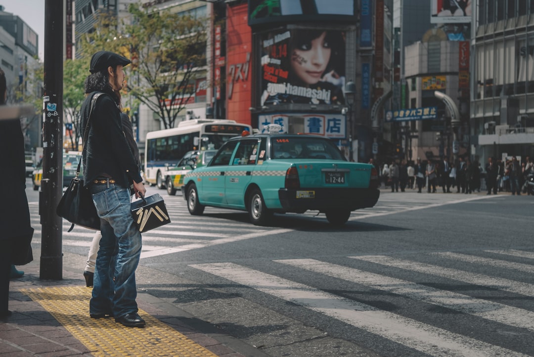
[{"label": "brick sidewalk with yellow tactile paving under the man in jeans", "polygon": [[40,280],[35,258],[10,282],[12,315],[0,320],[0,356],[267,356],[143,291],[137,302],[146,328],[91,319],[83,276],[64,269],[63,280]]}]

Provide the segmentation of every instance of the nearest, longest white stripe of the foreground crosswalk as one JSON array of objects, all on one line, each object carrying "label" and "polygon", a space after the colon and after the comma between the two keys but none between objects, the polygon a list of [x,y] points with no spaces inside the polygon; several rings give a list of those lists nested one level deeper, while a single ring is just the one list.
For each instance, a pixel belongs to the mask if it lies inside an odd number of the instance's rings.
[{"label": "nearest, longest white stripe of the foreground crosswalk", "polygon": [[307,307],[429,355],[522,355],[506,348],[454,334],[388,311],[381,311],[373,306],[233,263],[190,266]]}]

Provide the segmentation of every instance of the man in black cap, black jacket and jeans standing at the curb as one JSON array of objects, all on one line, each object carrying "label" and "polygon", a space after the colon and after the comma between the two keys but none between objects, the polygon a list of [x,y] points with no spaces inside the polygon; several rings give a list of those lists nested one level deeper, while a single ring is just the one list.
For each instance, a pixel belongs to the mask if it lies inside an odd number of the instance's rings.
[{"label": "man in black cap, black jacket and jeans standing at the curb", "polygon": [[[142,243],[130,212],[130,185],[136,197],[144,196],[146,189],[121,124],[122,68],[128,64],[130,60],[119,54],[97,52],[85,80],[89,95],[81,109],[82,138],[87,137],[83,176],[102,234],[89,314],[93,319],[114,316],[124,326],[144,327],[145,321],[137,314],[135,282]],[[89,117],[91,99],[98,92],[103,94]]]}]

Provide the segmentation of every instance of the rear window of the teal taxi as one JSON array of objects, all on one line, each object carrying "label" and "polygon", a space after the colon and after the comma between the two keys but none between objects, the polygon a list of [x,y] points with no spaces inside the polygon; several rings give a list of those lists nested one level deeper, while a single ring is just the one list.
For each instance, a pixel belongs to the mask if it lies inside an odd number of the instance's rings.
[{"label": "rear window of the teal taxi", "polygon": [[271,138],[271,159],[282,158],[346,161],[337,146],[329,139],[311,137]]}]

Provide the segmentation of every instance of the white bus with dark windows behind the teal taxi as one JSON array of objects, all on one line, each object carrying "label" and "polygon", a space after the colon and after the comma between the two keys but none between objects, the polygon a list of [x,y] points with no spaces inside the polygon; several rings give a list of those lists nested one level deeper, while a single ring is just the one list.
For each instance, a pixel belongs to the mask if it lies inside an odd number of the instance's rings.
[{"label": "white bus with dark windows behind the teal taxi", "polygon": [[176,128],[151,131],[145,141],[145,181],[164,188],[162,172],[176,165],[191,150],[218,149],[231,137],[245,130],[248,124],[223,119],[194,119],[179,122]]}]

